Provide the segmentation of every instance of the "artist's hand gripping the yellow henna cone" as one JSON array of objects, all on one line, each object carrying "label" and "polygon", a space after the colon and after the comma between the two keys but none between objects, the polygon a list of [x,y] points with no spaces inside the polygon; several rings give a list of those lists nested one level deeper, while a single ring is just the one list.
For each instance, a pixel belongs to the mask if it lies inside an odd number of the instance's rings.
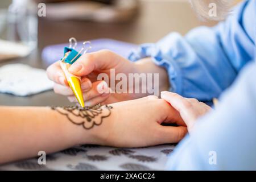
[{"label": "artist's hand gripping the yellow henna cone", "polygon": [[[159,80],[161,83],[168,85],[168,76],[164,69],[156,67],[151,60],[138,61],[133,63],[122,56],[115,54],[108,50],[97,51],[93,53],[86,53],[82,55],[75,63],[69,68],[69,72],[73,75],[81,77],[81,87],[84,94],[85,106],[92,106],[98,103],[111,104],[114,102],[133,100],[148,96],[147,93],[116,93],[111,92],[110,79],[114,79],[110,75],[110,70],[113,69],[115,75],[122,73],[129,77],[129,73],[160,73]],[[154,71],[152,71],[154,69]],[[100,73],[105,73],[109,77],[108,84],[97,77]],[[59,63],[52,64],[47,69],[48,77],[55,82],[54,90],[57,94],[68,96],[71,102],[77,102],[71,88],[68,86],[67,80]],[[164,76],[161,76],[164,75]],[[165,90],[166,85],[159,85],[160,91]],[[105,92],[100,92],[98,88],[104,88]],[[164,87],[164,89],[162,89]],[[128,88],[128,86],[127,86]],[[112,91],[115,91],[112,89]],[[127,90],[128,91],[128,90]]]}]

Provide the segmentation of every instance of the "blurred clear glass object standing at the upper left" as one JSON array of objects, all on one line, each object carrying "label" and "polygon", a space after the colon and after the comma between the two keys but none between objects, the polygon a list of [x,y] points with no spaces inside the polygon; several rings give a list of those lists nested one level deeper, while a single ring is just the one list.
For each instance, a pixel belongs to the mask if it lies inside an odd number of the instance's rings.
[{"label": "blurred clear glass object standing at the upper left", "polygon": [[38,45],[37,6],[30,0],[13,0],[7,13],[6,39],[27,46],[30,51]]}]

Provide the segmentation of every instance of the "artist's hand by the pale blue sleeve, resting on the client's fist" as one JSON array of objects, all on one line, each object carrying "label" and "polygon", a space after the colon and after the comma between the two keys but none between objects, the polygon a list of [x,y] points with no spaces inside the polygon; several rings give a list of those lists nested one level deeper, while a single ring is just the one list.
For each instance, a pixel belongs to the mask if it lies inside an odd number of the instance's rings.
[{"label": "artist's hand by the pale blue sleeve, resting on the client's fist", "polygon": [[199,102],[195,98],[184,98],[179,94],[172,92],[161,92],[161,98],[169,102],[171,106],[180,113],[180,116],[187,125],[189,132],[192,131],[196,119],[211,110],[211,107],[203,102]]}]

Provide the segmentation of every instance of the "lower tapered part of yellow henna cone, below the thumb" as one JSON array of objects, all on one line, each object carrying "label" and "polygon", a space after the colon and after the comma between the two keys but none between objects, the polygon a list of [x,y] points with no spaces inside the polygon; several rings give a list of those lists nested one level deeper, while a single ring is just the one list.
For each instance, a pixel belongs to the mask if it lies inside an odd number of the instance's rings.
[{"label": "lower tapered part of yellow henna cone, below the thumb", "polygon": [[82,97],[82,88],[81,88],[80,79],[75,76],[71,76],[68,79],[68,85],[73,90],[73,93],[75,94],[77,101],[79,102],[81,107],[85,107],[84,98]]}]

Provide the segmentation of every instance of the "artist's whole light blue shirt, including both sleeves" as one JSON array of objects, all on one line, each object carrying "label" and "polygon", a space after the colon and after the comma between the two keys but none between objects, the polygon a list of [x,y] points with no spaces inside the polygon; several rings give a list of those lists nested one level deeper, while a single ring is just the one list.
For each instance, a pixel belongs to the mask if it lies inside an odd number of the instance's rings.
[{"label": "artist's whole light blue shirt, including both sleeves", "polygon": [[166,68],[172,92],[201,101],[221,95],[217,110],[176,147],[167,169],[256,169],[255,12],[256,1],[244,1],[216,27],[184,37],[172,32],[129,56],[151,56]]}]

